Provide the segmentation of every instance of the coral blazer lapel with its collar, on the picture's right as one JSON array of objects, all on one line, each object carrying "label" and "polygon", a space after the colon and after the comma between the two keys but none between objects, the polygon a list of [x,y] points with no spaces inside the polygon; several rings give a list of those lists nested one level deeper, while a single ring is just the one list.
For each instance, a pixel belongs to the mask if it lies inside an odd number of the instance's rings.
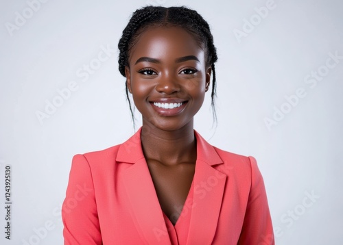
[{"label": "coral blazer lapel with its collar, on the picture's right", "polygon": [[213,168],[223,164],[213,146],[195,133],[198,156],[187,244],[211,244],[217,229],[227,177]]}]

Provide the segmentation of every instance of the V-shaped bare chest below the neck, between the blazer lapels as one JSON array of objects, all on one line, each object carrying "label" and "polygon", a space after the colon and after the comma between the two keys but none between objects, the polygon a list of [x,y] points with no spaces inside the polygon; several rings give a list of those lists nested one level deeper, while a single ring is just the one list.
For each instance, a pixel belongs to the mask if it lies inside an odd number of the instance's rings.
[{"label": "V-shaped bare chest below the neck, between the blazer lapels", "polygon": [[176,224],[191,188],[195,164],[164,166],[158,162],[147,162],[147,166],[161,209],[171,223]]}]

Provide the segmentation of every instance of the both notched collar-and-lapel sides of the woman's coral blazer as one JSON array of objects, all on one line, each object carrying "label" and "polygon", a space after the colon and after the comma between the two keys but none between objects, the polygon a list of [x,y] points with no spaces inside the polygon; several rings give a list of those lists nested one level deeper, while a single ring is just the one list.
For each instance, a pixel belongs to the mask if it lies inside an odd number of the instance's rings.
[{"label": "both notched collar-and-lapel sides of the woman's coral blazer", "polygon": [[[196,131],[194,133],[197,140],[197,160],[187,244],[211,244],[217,229],[227,177],[215,169],[214,165],[223,164],[223,161],[213,146]],[[171,244],[163,211],[141,148],[141,128],[121,144],[116,160],[132,164],[124,170],[122,181],[128,194],[132,219],[142,239],[147,244]]]}]

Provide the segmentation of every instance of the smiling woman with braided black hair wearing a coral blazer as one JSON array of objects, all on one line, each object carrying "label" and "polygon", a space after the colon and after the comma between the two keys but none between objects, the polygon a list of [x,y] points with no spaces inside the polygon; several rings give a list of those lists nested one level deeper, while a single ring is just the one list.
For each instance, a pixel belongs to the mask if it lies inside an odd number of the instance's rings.
[{"label": "smiling woman with braided black hair wearing a coral blazer", "polygon": [[64,244],[274,244],[255,159],[193,129],[211,76],[215,96],[206,21],[188,8],[145,7],[118,47],[143,126],[123,144],[73,157]]}]

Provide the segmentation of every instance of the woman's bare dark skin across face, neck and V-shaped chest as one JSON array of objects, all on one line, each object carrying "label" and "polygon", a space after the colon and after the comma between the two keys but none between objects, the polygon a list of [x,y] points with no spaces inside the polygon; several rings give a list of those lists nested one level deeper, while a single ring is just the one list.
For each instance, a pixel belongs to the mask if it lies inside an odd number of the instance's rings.
[{"label": "woman's bare dark skin across face, neck and V-shaped chest", "polygon": [[143,153],[161,209],[175,225],[194,176],[193,117],[209,88],[211,67],[206,67],[204,49],[180,27],[143,31],[129,64],[128,90],[143,117]]}]

